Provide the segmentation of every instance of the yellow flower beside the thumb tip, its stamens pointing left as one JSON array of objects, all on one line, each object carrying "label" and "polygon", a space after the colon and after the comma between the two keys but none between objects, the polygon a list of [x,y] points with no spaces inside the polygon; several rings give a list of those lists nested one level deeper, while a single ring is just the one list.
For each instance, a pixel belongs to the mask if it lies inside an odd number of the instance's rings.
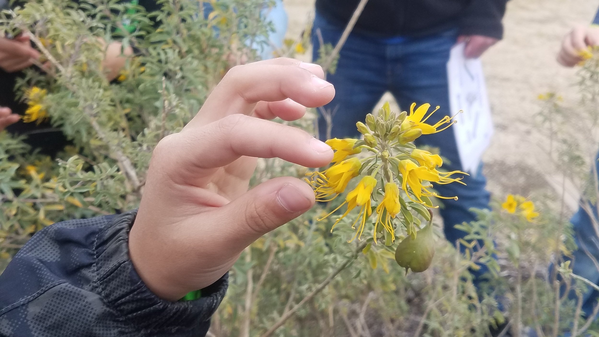
[{"label": "yellow flower beside the thumb tip, its stamens pointing left", "polygon": [[337,163],[323,172],[311,172],[308,183],[314,188],[317,201],[331,201],[343,193],[352,178],[358,177],[362,163],[350,158]]}]

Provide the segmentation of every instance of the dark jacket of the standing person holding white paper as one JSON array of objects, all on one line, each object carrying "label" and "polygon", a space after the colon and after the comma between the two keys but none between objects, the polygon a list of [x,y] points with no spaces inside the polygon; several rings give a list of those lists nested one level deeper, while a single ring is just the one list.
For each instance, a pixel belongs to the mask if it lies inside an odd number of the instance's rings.
[{"label": "dark jacket of the standing person holding white paper", "polygon": [[[327,20],[345,26],[359,0],[316,0]],[[507,0],[370,0],[354,32],[377,37],[419,37],[459,27],[460,34],[501,39]]]}]

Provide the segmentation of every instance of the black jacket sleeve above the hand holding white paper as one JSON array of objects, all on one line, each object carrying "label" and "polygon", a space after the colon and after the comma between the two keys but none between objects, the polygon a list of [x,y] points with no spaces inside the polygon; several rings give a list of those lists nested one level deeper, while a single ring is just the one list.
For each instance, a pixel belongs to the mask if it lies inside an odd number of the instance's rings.
[{"label": "black jacket sleeve above the hand holding white paper", "polygon": [[508,0],[472,0],[461,19],[460,34],[503,38],[503,19]]}]

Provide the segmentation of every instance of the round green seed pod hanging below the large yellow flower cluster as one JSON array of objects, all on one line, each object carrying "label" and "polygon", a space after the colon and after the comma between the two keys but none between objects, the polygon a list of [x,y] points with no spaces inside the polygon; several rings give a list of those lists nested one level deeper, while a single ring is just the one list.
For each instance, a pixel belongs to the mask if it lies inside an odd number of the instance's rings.
[{"label": "round green seed pod hanging below the large yellow flower cluster", "polygon": [[431,265],[435,255],[435,236],[432,232],[432,223],[418,231],[416,238],[407,236],[395,250],[395,261],[403,268],[412,269],[413,272],[423,272]]}]

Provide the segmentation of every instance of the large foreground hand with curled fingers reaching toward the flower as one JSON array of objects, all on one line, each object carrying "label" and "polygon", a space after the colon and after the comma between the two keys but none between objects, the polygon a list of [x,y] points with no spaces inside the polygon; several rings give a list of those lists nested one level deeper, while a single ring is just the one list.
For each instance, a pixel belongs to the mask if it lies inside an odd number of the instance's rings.
[{"label": "large foreground hand with curled fingers reaching toward the flower", "polygon": [[256,157],[331,161],[331,148],[307,132],[264,120],[297,120],[304,107],[330,102],[335,90],[322,77],[320,66],[293,59],[236,66],[197,116],[158,144],[129,236],[135,268],[156,295],[177,300],[209,286],[253,241],[313,206],[297,178],[247,188]]}]

